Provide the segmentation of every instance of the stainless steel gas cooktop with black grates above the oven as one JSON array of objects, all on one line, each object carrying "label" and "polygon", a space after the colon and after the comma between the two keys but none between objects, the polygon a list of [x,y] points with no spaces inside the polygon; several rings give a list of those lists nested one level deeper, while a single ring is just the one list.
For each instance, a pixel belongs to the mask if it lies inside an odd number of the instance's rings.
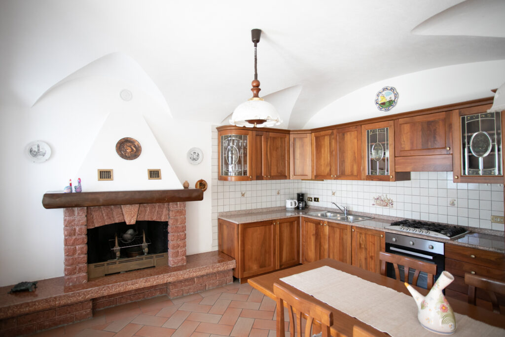
[{"label": "stainless steel gas cooktop with black grates above the oven", "polygon": [[463,227],[419,220],[395,221],[385,228],[448,239],[456,239],[470,233],[470,231]]}]

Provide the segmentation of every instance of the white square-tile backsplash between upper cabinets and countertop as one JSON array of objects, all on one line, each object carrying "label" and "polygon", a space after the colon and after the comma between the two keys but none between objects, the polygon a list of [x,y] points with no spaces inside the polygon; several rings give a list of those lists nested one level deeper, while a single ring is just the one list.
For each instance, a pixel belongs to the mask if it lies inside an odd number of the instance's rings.
[{"label": "white square-tile backsplash between upper cabinets and countertop", "polygon": [[[504,230],[491,223],[491,215],[503,216],[503,184],[453,183],[452,172],[412,172],[409,181],[362,180],[218,180],[218,133],[213,129],[212,226],[217,249],[218,212],[279,207],[296,193],[317,197],[311,206],[375,213],[400,218]],[[336,208],[335,208],[336,209]]]}]

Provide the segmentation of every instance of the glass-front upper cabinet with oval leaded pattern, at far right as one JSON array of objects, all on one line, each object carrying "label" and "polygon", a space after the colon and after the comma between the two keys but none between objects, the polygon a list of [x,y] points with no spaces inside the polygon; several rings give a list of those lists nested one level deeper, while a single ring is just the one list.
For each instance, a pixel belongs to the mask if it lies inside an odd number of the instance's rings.
[{"label": "glass-front upper cabinet with oval leaded pattern, at far right", "polygon": [[453,181],[503,183],[500,112],[487,112],[491,105],[460,109],[453,112]]}]

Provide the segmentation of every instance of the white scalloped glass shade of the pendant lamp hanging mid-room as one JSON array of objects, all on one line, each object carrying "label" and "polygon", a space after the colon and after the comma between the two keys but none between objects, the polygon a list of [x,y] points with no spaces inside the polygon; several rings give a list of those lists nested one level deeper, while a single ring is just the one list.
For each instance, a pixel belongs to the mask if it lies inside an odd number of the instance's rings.
[{"label": "white scalloped glass shade of the pendant lamp hanging mid-room", "polygon": [[[255,120],[265,122],[255,124]],[[240,104],[230,118],[230,124],[245,127],[272,127],[280,123],[282,120],[277,110],[263,99],[250,99]]]}]

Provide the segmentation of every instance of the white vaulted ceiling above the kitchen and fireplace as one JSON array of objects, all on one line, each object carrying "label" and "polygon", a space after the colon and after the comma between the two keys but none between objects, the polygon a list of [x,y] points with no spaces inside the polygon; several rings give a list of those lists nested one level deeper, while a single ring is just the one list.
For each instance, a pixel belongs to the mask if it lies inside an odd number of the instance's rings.
[{"label": "white vaulted ceiling above the kitchen and fireplace", "polygon": [[174,118],[221,123],[251,96],[250,30],[260,28],[260,96],[275,102],[283,127],[301,128],[378,80],[505,58],[504,4],[2,0],[0,101],[32,106],[70,74],[120,52],[158,86]]}]

